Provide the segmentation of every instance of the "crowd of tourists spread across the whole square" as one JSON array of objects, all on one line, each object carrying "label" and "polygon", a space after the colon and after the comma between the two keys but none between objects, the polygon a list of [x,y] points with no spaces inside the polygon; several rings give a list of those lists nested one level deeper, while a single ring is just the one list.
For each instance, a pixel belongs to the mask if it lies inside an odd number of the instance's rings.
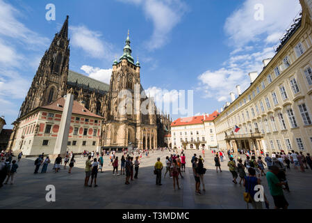
[{"label": "crowd of tourists spread across the whole square", "polygon": [[[165,157],[164,164],[161,162],[161,157],[157,158],[157,162],[154,165],[154,174],[156,175],[156,185],[162,185],[162,178],[172,178],[173,189],[181,190],[183,182],[179,182],[179,179],[183,180],[186,174],[186,155],[183,149],[177,150],[172,148],[156,148],[155,151],[161,151],[161,153],[169,153]],[[203,150],[204,151],[204,150]],[[307,153],[304,155],[302,152],[291,151],[285,153],[281,151],[279,153],[272,153],[269,155],[263,151],[240,151],[238,155],[235,155],[233,151],[227,151],[227,156],[224,155],[224,151],[212,151],[214,157],[214,164],[217,174],[220,171],[222,173],[221,164],[227,161],[227,167],[232,176],[233,184],[239,184],[245,187],[245,193],[243,199],[247,202],[247,208],[251,205],[253,208],[269,208],[269,202],[265,194],[263,194],[263,201],[258,201],[255,194],[259,190],[255,190],[256,186],[262,186],[263,180],[267,180],[270,194],[274,200],[275,208],[288,208],[288,201],[284,196],[284,190],[290,192],[286,173],[290,169],[301,171],[302,173],[309,169],[312,169],[311,155]],[[97,174],[104,172],[104,156],[109,156],[108,167],[112,167],[113,176],[124,176],[125,184],[129,185],[131,181],[138,179],[138,172],[140,162],[143,157],[149,157],[149,151],[133,149],[128,151],[126,148],[122,150],[121,158],[117,156],[116,151],[103,151],[97,153],[95,151],[83,151],[82,157],[87,156],[85,161],[85,187],[98,187]],[[4,184],[14,183],[17,169],[19,168],[18,162],[22,158],[22,153],[17,155],[17,160],[14,160],[14,155],[10,152],[1,152],[1,171],[0,171],[0,187]],[[204,167],[205,153],[197,157],[195,153],[190,159],[190,166],[192,167],[192,174],[195,179],[195,194],[201,195],[206,191],[204,184],[204,175],[206,174],[206,168]],[[54,173],[58,173],[61,169],[66,169],[67,164],[69,167],[68,174],[72,174],[72,168],[74,167],[76,160],[75,155],[71,152],[67,152],[65,157],[62,158],[58,155],[55,158],[52,169]],[[34,174],[38,174],[41,168],[41,174],[47,173],[49,164],[51,163],[49,155],[39,155],[35,159],[35,171]],[[120,169],[119,169],[120,167]],[[165,171],[163,173],[163,169]],[[258,187],[257,187],[258,188]]]}]

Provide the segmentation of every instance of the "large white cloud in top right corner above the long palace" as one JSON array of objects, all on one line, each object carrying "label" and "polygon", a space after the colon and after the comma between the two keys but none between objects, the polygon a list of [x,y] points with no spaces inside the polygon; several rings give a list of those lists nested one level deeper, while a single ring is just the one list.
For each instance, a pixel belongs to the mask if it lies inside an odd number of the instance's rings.
[{"label": "large white cloud in top right corner above the long palace", "polygon": [[[255,6],[258,3],[264,6],[264,20],[254,18]],[[246,0],[241,8],[227,18],[224,29],[229,35],[230,43],[241,47],[258,41],[261,35],[272,36],[282,33],[300,9],[299,1],[294,0]]]}]

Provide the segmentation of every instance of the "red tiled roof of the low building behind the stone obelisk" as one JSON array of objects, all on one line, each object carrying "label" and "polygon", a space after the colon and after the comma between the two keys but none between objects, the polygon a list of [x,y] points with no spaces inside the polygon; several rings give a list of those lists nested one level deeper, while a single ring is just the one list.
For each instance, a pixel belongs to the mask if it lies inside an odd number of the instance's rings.
[{"label": "red tiled roof of the low building behind the stone obelisk", "polygon": [[[62,107],[59,107],[58,105],[60,105]],[[63,112],[64,105],[65,105],[65,98],[59,98],[58,100],[56,100],[56,102],[53,102],[53,103],[51,103],[50,105],[47,105],[47,106],[42,106],[40,108],[51,109],[51,110],[54,110],[54,111]],[[97,114],[93,114],[88,109],[83,107],[83,105],[81,105],[76,100],[74,100],[74,105],[72,107],[72,114],[80,114],[82,116],[91,116],[91,117],[95,117],[95,118],[103,118],[101,116],[98,116]]]}]

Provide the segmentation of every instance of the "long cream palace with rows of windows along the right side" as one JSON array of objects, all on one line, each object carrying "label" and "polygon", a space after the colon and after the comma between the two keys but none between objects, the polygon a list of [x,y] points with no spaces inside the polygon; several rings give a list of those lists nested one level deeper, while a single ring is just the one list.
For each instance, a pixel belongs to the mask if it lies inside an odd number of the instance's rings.
[{"label": "long cream palace with rows of windows along the right side", "polygon": [[[272,153],[312,153],[312,1],[300,0],[302,16],[288,29],[260,75],[215,118],[220,148]],[[233,128],[240,130],[235,132]]]}]

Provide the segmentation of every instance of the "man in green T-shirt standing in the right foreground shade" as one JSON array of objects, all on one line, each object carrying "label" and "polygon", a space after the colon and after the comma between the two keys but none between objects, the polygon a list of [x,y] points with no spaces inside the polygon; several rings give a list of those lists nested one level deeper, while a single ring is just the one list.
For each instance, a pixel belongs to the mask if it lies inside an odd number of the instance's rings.
[{"label": "man in green T-shirt standing in the right foreground shade", "polygon": [[277,174],[279,174],[279,167],[274,165],[271,167],[271,169],[269,169],[266,174],[266,178],[268,180],[268,185],[270,188],[270,194],[274,199],[275,209],[287,209],[289,204],[284,197],[282,187],[283,185],[285,185],[285,183],[279,180]]}]

